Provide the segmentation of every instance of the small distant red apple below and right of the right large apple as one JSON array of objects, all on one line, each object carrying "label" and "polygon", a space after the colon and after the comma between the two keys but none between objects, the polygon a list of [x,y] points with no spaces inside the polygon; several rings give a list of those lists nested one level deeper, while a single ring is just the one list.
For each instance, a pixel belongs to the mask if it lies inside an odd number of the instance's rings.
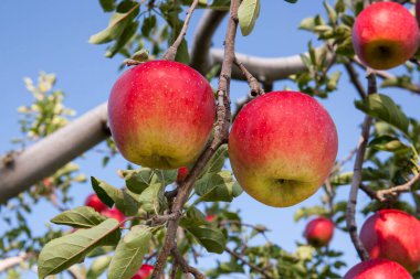
[{"label": "small distant red apple below and right of the right large apple", "polygon": [[305,228],[307,243],[316,248],[327,246],[334,235],[334,223],[325,217],[311,221]]}]

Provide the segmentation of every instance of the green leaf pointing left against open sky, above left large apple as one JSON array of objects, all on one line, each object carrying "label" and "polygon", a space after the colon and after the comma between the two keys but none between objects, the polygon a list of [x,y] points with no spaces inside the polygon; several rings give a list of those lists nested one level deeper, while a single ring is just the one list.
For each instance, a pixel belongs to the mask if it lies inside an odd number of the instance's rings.
[{"label": "green leaf pointing left against open sky, above left large apple", "polygon": [[111,17],[108,26],[92,35],[88,40],[91,44],[104,44],[116,40],[124,32],[126,25],[138,14],[139,4],[134,6],[125,13],[116,12]]}]

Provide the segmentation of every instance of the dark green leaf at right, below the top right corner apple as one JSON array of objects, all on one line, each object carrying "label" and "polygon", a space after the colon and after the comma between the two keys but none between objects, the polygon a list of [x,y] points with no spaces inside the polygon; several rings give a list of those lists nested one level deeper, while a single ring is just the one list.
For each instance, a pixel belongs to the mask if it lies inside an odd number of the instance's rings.
[{"label": "dark green leaf at right, below the top right corner apple", "polygon": [[367,115],[379,118],[406,133],[408,132],[409,120],[390,97],[372,94],[363,100],[356,100],[355,105]]}]

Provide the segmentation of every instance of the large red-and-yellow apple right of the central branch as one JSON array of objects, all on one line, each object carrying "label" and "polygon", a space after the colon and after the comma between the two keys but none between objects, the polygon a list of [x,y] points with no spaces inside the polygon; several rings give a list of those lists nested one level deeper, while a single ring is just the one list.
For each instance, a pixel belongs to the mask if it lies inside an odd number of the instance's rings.
[{"label": "large red-and-yellow apple right of the central branch", "polygon": [[245,105],[229,136],[229,157],[243,190],[275,207],[309,197],[337,155],[333,119],[313,97],[272,92]]}]

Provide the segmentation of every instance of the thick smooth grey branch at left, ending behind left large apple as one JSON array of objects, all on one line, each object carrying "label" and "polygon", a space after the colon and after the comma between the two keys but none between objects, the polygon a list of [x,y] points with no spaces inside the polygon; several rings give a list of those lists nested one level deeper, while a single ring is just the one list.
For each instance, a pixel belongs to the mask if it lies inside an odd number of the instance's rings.
[{"label": "thick smooth grey branch at left, ending behind left large apple", "polygon": [[109,137],[106,119],[107,105],[102,104],[23,152],[13,154],[8,163],[0,162],[0,203],[52,175]]}]

